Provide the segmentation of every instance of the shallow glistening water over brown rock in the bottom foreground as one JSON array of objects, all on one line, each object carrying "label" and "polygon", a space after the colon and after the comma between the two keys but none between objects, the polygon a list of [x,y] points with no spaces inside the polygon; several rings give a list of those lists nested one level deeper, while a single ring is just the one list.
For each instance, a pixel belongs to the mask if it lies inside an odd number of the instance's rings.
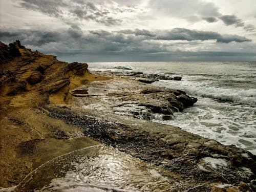
[{"label": "shallow glistening water over brown rock in the bottom foreground", "polygon": [[166,191],[172,183],[137,158],[95,145],[39,166],[16,191]]}]

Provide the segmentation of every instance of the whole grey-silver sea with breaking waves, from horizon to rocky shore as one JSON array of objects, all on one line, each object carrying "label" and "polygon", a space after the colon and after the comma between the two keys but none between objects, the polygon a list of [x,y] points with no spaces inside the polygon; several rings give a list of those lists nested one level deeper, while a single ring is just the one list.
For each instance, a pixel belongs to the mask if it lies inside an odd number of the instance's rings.
[{"label": "whole grey-silver sea with breaking waves, from horizon to rocky shore", "polygon": [[256,62],[102,62],[91,71],[130,71],[181,76],[154,86],[185,91],[198,98],[193,107],[160,121],[183,130],[234,144],[256,155]]}]

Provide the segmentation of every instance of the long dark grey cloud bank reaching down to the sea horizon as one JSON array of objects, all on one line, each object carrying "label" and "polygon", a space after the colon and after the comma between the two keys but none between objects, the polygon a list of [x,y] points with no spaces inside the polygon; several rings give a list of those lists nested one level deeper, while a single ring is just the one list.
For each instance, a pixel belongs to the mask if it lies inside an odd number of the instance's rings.
[{"label": "long dark grey cloud bank reaching down to the sea horizon", "polygon": [[[227,52],[222,56],[223,52],[184,52],[182,48],[201,46],[201,41],[204,40],[216,40],[216,44],[218,42],[228,44],[231,41],[250,41],[250,39],[238,35],[221,35],[216,32],[183,28],[157,31],[136,29],[112,32],[104,30],[84,32],[78,26],[73,25],[69,29],[60,32],[45,29],[2,29],[0,32],[0,40],[5,43],[12,42],[15,39],[19,39],[28,48],[44,53],[70,55],[70,58],[63,57],[67,61],[72,61],[71,58],[74,58],[74,54],[79,53],[81,54],[78,55],[78,59],[86,59],[81,61],[90,61],[88,58],[91,58],[91,61],[179,60],[179,57],[182,57],[183,60],[193,60],[193,58],[210,60],[212,58],[227,59],[232,56],[236,56],[236,59],[239,59],[237,57],[238,54],[235,55],[234,53],[228,55]],[[249,55],[248,58],[254,56],[255,54]]]}]

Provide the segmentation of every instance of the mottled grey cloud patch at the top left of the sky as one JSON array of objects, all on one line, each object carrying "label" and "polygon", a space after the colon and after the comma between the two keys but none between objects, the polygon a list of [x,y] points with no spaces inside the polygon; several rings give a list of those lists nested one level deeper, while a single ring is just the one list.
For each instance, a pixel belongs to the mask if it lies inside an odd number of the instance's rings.
[{"label": "mottled grey cloud patch at the top left of the sky", "polygon": [[[19,5],[25,9],[39,11],[46,15],[57,17],[66,23],[69,23],[67,20],[71,19],[74,23],[77,20],[94,20],[106,26],[120,25],[122,20],[110,16],[111,10],[104,8],[104,6],[97,8],[94,2],[95,1],[89,2],[82,0],[21,0]],[[119,9],[115,9],[112,11],[118,12],[118,10]],[[127,10],[131,11],[132,9]],[[120,11],[123,12],[125,10],[120,9]]]}]

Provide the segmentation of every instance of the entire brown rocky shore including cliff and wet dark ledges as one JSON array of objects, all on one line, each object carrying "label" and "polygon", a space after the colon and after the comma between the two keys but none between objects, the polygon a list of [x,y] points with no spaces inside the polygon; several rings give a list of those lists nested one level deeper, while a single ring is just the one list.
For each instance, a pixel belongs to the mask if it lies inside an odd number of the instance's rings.
[{"label": "entire brown rocky shore including cliff and wet dark ledges", "polygon": [[13,45],[15,54],[0,43],[0,187],[39,189],[22,183],[33,169],[104,143],[159,167],[172,191],[256,189],[251,153],[151,121],[170,120],[197,102],[183,91],[148,85],[173,77],[89,73],[86,63],[61,62],[20,42]]}]

